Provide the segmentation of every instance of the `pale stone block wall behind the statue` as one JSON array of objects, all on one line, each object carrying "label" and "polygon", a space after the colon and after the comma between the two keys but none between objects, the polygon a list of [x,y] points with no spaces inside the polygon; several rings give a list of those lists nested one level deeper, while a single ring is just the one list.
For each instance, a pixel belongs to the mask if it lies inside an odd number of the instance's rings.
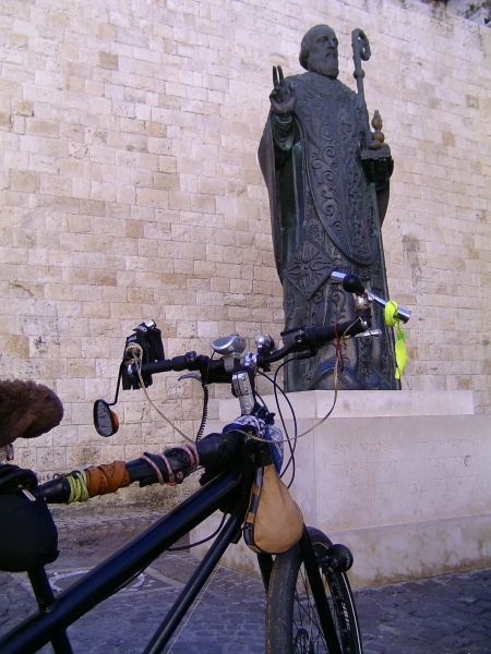
[{"label": "pale stone block wall behind the statue", "polygon": [[[351,88],[351,29],[372,44],[367,101],[396,162],[388,282],[415,312],[403,385],[471,389],[476,411],[491,412],[490,29],[416,0],[5,0],[0,373],[47,384],[65,407],[60,427],[17,441],[21,465],[46,477],[177,440],[136,391],[119,435],[92,427],[142,319],[163,329],[168,356],[236,330],[279,334],[255,153],[272,65],[301,72],[301,37],[319,23],[337,32]],[[196,387],[169,375],[151,388],[189,433]]]}]

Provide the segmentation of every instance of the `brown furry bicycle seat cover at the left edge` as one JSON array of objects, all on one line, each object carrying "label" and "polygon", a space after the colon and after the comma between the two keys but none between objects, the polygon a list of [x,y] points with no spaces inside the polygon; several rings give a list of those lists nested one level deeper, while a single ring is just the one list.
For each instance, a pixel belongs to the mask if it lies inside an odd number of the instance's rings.
[{"label": "brown furry bicycle seat cover at the left edge", "polygon": [[62,417],[63,404],[47,386],[21,379],[0,382],[0,447],[46,434]]}]

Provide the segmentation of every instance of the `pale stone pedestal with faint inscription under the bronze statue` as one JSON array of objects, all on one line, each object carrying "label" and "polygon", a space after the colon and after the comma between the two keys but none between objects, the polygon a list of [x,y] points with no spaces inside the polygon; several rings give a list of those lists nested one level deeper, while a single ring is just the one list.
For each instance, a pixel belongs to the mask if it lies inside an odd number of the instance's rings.
[{"label": "pale stone pedestal with faint inscription under the bronze statue", "polygon": [[[301,433],[334,392],[288,397]],[[265,401],[273,411],[274,399]],[[287,417],[286,403],[282,410]],[[238,413],[237,400],[223,400],[220,423],[207,431]],[[292,436],[291,420],[287,427]],[[352,550],[355,588],[491,566],[489,416],[474,415],[470,391],[342,391],[333,415],[298,440],[296,463],[291,494],[307,524]],[[192,542],[219,519],[194,530]],[[243,542],[225,565],[259,573]]]}]

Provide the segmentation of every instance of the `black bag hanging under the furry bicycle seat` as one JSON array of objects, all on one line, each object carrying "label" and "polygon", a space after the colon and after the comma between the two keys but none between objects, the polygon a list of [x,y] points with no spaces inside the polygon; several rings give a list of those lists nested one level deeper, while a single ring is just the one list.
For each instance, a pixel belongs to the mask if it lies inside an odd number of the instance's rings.
[{"label": "black bag hanging under the furry bicycle seat", "polygon": [[25,572],[58,558],[58,531],[48,505],[28,497],[36,486],[32,470],[0,465],[0,570],[5,572]]}]

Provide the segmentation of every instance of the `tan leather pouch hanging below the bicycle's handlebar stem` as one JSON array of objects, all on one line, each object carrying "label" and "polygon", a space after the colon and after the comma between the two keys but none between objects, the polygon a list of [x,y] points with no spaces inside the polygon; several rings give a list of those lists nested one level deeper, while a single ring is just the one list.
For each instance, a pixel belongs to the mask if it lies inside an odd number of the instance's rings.
[{"label": "tan leather pouch hanging below the bicycle's handlebar stem", "polygon": [[246,544],[256,553],[282,554],[300,541],[302,530],[302,512],[274,464],[259,468],[244,522]]}]

